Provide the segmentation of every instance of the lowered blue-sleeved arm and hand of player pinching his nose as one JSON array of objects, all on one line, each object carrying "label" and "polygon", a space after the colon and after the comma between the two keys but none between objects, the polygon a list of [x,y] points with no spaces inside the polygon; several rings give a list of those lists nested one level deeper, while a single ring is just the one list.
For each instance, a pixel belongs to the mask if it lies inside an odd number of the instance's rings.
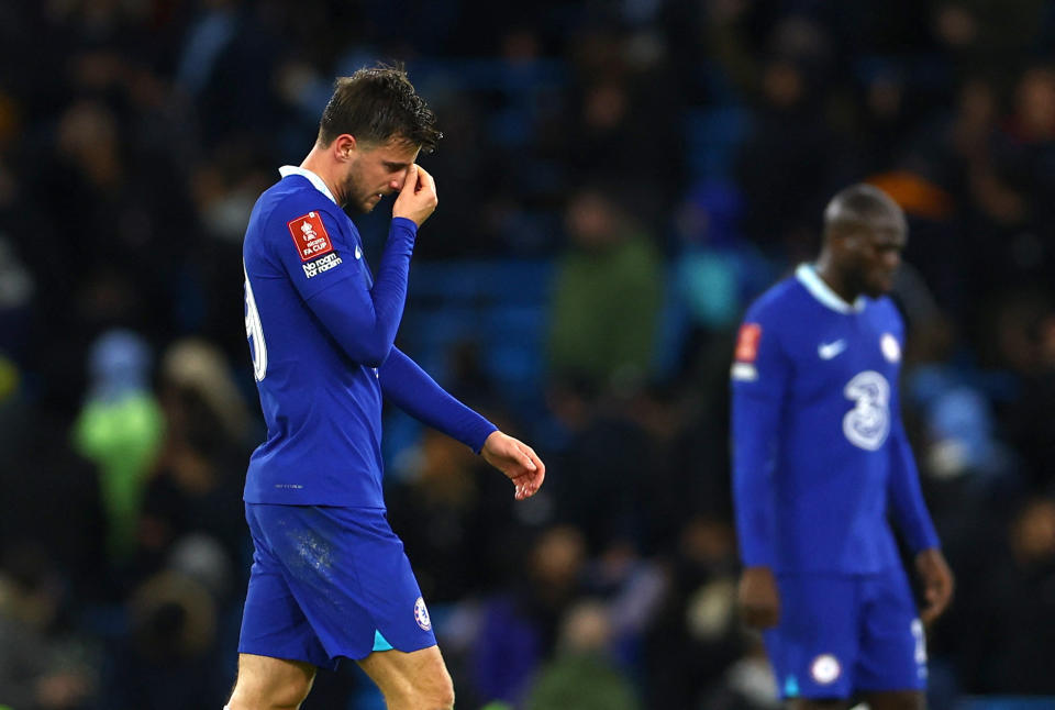
[{"label": "lowered blue-sleeved arm and hand of player pinching his nose", "polygon": [[542,486],[546,467],[530,446],[452,397],[398,347],[391,348],[377,375],[386,399],[480,454],[513,481],[518,500]]}]

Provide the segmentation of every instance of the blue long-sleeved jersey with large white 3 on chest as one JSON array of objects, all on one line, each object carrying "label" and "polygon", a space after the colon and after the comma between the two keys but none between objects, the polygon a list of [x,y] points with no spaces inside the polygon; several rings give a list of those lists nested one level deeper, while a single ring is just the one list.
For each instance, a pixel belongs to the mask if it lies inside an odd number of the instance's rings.
[{"label": "blue long-sleeved jersey with large white 3 on chest", "polygon": [[732,365],[741,556],[778,573],[871,574],[937,546],[899,413],[901,317],[843,301],[810,265],[747,311]]}]

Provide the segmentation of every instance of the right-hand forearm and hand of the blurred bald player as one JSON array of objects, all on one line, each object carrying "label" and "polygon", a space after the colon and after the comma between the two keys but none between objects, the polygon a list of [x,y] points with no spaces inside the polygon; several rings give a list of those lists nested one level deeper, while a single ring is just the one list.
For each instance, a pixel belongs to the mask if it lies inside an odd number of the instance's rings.
[{"label": "right-hand forearm and hand of the blurred bald player", "polygon": [[937,532],[926,510],[915,457],[897,409],[890,426],[890,510],[898,529],[915,554],[915,569],[923,580],[926,606],[923,623],[931,623],[948,607],[953,597],[953,573],[942,554]]}]

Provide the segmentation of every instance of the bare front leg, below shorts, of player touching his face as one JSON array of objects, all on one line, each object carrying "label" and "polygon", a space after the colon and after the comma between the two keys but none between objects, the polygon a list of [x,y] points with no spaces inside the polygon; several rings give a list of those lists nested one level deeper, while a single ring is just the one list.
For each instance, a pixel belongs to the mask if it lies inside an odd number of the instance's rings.
[{"label": "bare front leg, below shorts, of player touching his face", "polygon": [[454,684],[440,646],[420,651],[377,651],[357,662],[390,708],[448,708],[454,705]]}]

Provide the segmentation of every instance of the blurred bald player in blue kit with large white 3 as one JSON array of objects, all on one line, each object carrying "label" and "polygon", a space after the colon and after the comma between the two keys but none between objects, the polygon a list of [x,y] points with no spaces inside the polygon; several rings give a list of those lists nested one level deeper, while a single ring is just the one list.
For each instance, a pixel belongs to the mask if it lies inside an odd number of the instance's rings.
[{"label": "blurred bald player in blue kit with large white 3", "polygon": [[[925,706],[924,624],[953,577],[901,423],[904,325],[886,293],[901,209],[854,185],[824,211],[815,264],[747,311],[732,366],[738,600],[797,710]],[[891,514],[914,554],[918,613]],[[922,621],[921,621],[922,618]]]}]

